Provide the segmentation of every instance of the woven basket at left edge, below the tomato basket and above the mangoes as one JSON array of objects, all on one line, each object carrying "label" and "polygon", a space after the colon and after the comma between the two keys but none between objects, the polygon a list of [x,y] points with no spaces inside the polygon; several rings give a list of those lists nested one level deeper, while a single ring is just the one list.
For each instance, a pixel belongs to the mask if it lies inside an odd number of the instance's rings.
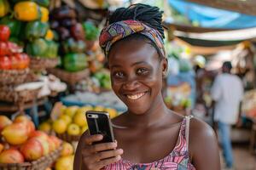
[{"label": "woven basket at left edge, below the tomato basket and above the mangoes", "polygon": [[12,86],[0,87],[0,100],[14,103],[26,103],[36,99],[41,88],[33,90],[15,91]]}]

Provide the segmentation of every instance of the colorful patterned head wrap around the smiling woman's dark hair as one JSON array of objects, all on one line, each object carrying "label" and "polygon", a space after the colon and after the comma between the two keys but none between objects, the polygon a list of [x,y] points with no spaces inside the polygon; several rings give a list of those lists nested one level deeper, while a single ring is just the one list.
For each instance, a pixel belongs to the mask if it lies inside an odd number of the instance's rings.
[{"label": "colorful patterned head wrap around the smiling woman's dark hair", "polygon": [[162,56],[166,56],[164,41],[159,31],[137,20],[122,20],[105,27],[100,35],[100,46],[108,56],[114,42],[119,41],[134,33],[140,33],[148,37],[159,48]]}]

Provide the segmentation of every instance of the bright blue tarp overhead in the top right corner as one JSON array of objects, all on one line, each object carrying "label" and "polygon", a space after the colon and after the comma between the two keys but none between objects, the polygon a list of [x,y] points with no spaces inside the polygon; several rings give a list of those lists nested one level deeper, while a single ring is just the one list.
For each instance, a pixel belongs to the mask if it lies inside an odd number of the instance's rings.
[{"label": "bright blue tarp overhead in the top right corner", "polygon": [[[169,0],[172,8],[202,27],[242,29],[256,27],[256,16],[240,14],[224,9],[211,8],[185,0]],[[255,7],[256,8],[256,7]]]}]

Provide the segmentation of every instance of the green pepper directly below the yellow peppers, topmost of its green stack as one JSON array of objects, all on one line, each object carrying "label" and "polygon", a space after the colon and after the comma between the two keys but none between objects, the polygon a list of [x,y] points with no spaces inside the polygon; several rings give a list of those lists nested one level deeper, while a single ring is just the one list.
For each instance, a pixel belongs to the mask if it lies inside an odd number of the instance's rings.
[{"label": "green pepper directly below the yellow peppers, topmost of its green stack", "polygon": [[37,39],[38,37],[44,37],[48,29],[48,22],[41,22],[38,20],[29,22],[26,25],[26,39],[32,41],[34,39]]}]

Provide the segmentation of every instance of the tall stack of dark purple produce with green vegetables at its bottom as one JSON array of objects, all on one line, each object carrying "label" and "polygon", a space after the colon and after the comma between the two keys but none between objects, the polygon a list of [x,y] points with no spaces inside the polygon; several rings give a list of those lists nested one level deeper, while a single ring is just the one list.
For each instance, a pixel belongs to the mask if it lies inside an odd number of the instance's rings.
[{"label": "tall stack of dark purple produce with green vegetables at its bottom", "polygon": [[83,71],[88,66],[84,29],[76,16],[68,6],[55,8],[50,15],[50,26],[61,43],[61,68],[70,72]]}]

